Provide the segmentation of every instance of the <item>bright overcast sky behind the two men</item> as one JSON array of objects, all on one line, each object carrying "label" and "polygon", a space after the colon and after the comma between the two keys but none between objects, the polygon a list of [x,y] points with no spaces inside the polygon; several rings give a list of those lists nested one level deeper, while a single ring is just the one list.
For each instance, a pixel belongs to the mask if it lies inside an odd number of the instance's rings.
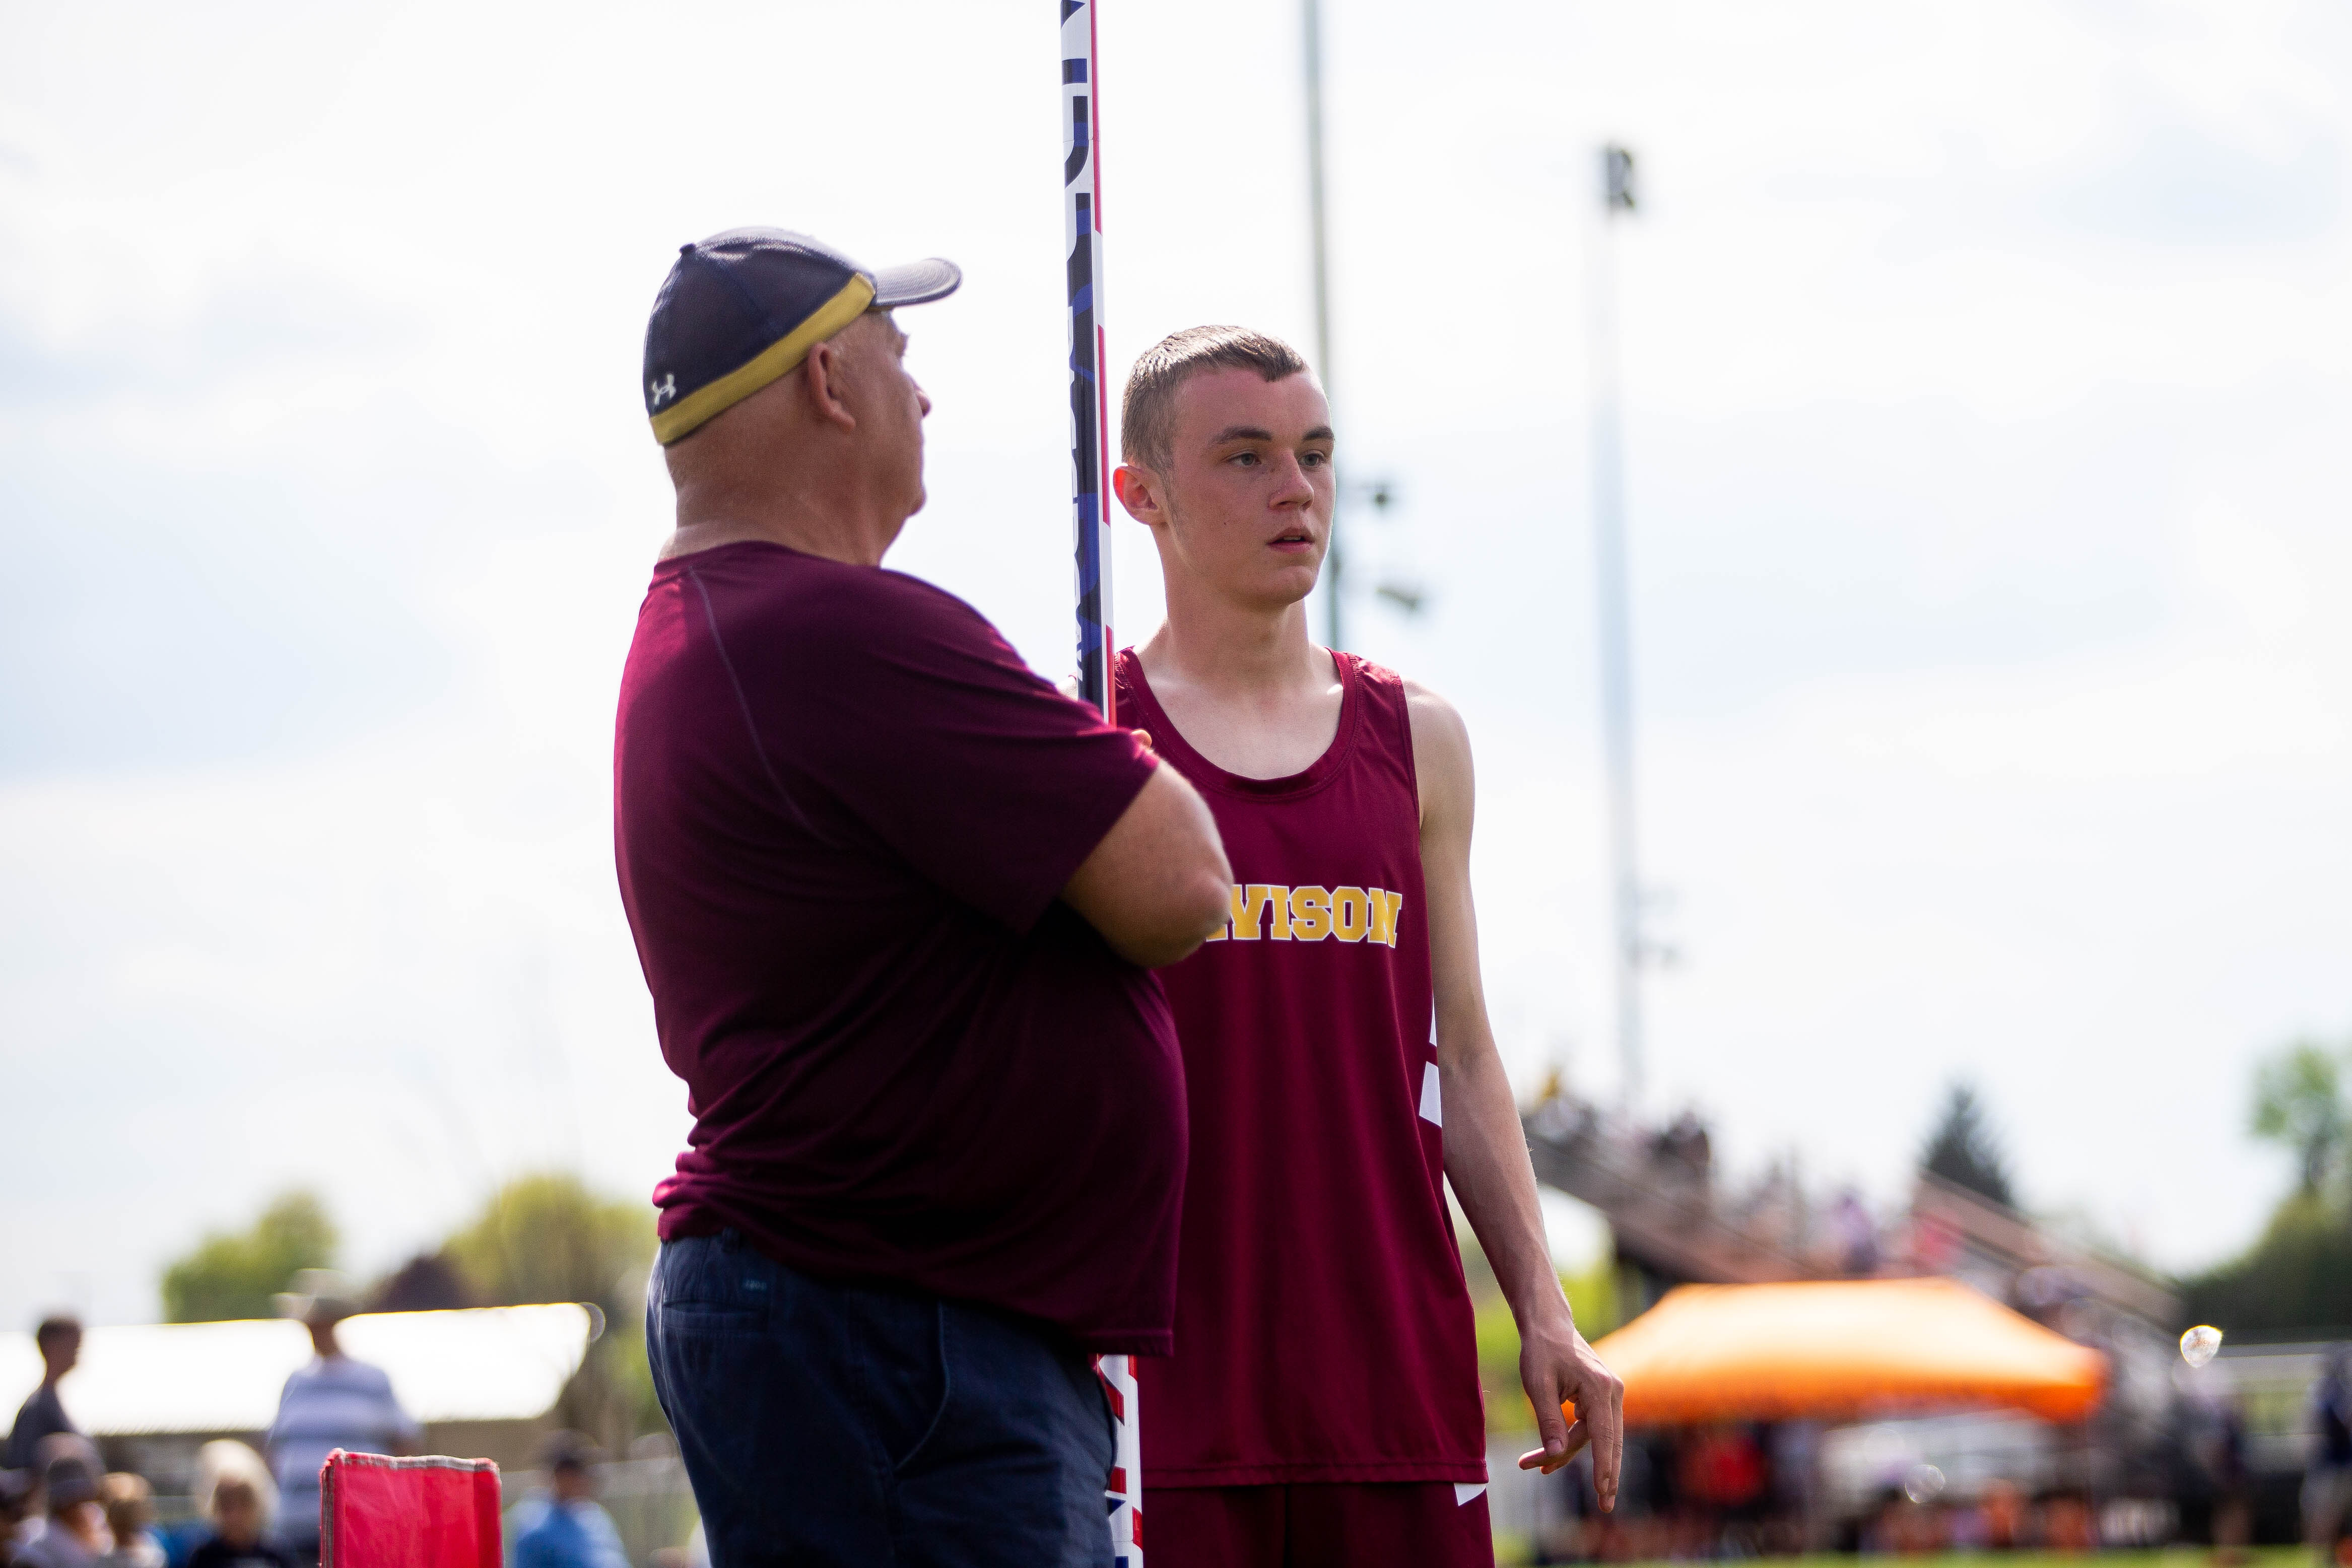
[{"label": "bright overcast sky behind the two men", "polygon": [[[346,1262],[684,1131],[612,698],[682,240],[948,254],[891,564],[1068,668],[1044,0],[0,9],[0,1321],[155,1312],[315,1185]],[[1592,148],[1621,336],[1651,1105],[1905,1187],[1973,1079],[2023,1197],[2169,1267],[2352,1030],[2352,21],[2326,5],[1324,0],[1350,642],[1479,755],[1522,1084],[1616,1091]],[[1310,341],[1298,26],[1108,0],[1108,331]],[[1157,621],[1141,529],[1117,616]]]}]

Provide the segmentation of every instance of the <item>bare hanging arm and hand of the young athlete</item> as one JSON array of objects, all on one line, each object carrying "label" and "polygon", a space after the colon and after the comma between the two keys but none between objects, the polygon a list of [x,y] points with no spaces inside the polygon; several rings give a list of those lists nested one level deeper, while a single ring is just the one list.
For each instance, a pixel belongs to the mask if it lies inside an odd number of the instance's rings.
[{"label": "bare hanging arm and hand of the young athlete", "polygon": [[[1435,691],[1406,682],[1414,717],[1414,771],[1421,778],[1421,879],[1430,907],[1430,976],[1437,983],[1437,1086],[1444,1107],[1446,1180],[1503,1281],[1519,1324],[1519,1380],[1536,1406],[1543,1448],[1522,1469],[1552,1474],[1592,1443],[1592,1490],[1616,1507],[1625,1443],[1625,1385],[1599,1363],[1552,1272],[1536,1204],[1526,1133],[1486,1023],[1477,966],[1477,910],[1470,903],[1470,818],[1475,778],[1470,731]],[[1576,1425],[1559,1413],[1576,1406]]]}]

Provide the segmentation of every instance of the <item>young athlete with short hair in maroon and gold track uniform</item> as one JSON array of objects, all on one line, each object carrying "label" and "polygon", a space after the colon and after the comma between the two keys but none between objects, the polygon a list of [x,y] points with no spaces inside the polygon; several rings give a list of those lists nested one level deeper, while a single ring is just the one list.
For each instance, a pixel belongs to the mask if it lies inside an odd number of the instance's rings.
[{"label": "young athlete with short hair in maroon and gold track uniform", "polygon": [[1120,719],[1209,802],[1235,879],[1232,922],[1160,971],[1192,1154],[1176,1354],[1138,1363],[1152,1568],[1494,1561],[1442,1178],[1519,1324],[1522,1467],[1590,1441],[1616,1500],[1623,1387],[1559,1291],[1486,1025],[1470,738],[1308,639],[1329,421],[1308,364],[1240,327],[1178,331],[1127,381],[1115,484],[1167,623],[1120,654]]}]

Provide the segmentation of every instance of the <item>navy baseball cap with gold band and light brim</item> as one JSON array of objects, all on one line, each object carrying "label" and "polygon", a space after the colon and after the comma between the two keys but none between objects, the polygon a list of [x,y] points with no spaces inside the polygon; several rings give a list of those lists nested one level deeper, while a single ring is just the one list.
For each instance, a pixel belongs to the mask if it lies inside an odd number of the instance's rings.
[{"label": "navy baseball cap with gold band and light brim", "polygon": [[654,440],[684,440],[868,310],[946,299],[960,282],[962,268],[938,256],[863,268],[788,228],[729,228],[680,244],[644,324]]}]

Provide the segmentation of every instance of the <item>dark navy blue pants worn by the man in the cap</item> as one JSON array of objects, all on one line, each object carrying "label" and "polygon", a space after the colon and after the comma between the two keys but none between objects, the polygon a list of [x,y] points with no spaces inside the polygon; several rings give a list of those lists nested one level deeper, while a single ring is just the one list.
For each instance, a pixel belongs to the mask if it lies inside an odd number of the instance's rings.
[{"label": "dark navy blue pants worn by the man in the cap", "polygon": [[1075,1345],[731,1229],[661,1246],[644,1335],[713,1568],[1110,1568],[1110,1406]]}]

